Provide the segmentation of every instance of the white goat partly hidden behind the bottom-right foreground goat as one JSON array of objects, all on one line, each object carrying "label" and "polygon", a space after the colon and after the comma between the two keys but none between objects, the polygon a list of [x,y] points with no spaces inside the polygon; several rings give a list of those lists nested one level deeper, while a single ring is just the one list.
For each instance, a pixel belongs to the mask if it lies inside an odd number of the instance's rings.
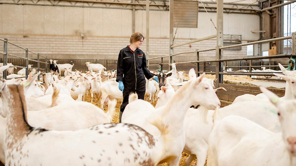
[{"label": "white goat partly hidden behind the bottom-right foreground goat", "polygon": [[[252,120],[273,132],[279,132],[280,126],[275,112],[276,108],[270,104],[245,101],[220,108],[217,117],[222,119],[229,115],[237,115]],[[196,157],[197,166],[205,164],[209,148],[208,139],[213,128],[213,114],[214,110],[208,111],[206,123],[203,117],[204,108],[190,108],[187,111],[184,120],[186,144],[183,150],[189,154],[185,162],[186,166],[189,166]]]}]

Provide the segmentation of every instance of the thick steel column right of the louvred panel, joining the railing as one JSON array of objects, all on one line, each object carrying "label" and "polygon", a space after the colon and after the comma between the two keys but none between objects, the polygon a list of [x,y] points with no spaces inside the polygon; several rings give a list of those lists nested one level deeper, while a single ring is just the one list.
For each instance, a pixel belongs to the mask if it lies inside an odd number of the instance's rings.
[{"label": "thick steel column right of the louvred panel, joining the railing", "polygon": [[[217,46],[216,46],[216,59],[223,58],[223,50],[219,47],[223,46],[223,0],[217,0]],[[216,88],[219,87],[219,84],[223,84],[223,75],[220,75],[219,72],[223,71],[223,63],[216,63]]]}]

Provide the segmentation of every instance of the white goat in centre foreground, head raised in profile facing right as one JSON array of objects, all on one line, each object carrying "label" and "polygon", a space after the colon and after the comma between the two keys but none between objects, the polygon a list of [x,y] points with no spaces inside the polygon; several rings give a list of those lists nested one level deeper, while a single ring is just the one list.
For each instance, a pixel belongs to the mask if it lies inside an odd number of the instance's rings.
[{"label": "white goat in centre foreground, head raised in profile facing right", "polygon": [[[122,115],[123,123],[136,124],[153,136],[159,135],[163,127],[169,131],[163,162],[172,166],[179,165],[185,145],[183,122],[188,108],[192,105],[204,105],[213,109],[220,105],[215,91],[209,85],[201,83],[205,74],[196,78],[194,69],[190,69],[189,75],[192,79],[182,86],[166,105],[154,108],[146,101],[135,100],[127,104]],[[139,107],[141,109],[138,109]]]}]

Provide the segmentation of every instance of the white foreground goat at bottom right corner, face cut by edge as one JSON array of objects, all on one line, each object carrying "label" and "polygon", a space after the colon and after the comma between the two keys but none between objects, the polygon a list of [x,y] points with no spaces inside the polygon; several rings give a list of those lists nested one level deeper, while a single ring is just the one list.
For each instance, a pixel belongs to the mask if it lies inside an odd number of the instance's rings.
[{"label": "white foreground goat at bottom right corner, face cut by edge", "polygon": [[207,165],[296,165],[296,101],[279,101],[272,92],[260,89],[277,107],[282,132],[270,132],[243,117],[226,117],[209,136]]}]

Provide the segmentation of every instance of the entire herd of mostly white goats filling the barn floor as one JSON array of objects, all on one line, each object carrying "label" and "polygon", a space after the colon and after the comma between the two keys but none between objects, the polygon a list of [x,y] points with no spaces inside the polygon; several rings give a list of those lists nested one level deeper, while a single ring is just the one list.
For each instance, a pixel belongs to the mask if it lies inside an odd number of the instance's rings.
[{"label": "entire herd of mostly white goats filling the barn floor", "polygon": [[145,100],[130,94],[122,123],[111,123],[123,99],[116,70],[87,62],[82,73],[73,65],[50,60],[52,72],[33,69],[28,79],[0,81],[3,164],[178,166],[186,152],[186,166],[195,158],[197,166],[296,166],[296,71],[281,64],[284,75],[274,75],[286,80],[284,97],[260,87],[263,93],[238,96],[223,108],[216,91],[225,89],[214,89],[216,79],[190,69],[183,80],[170,64],[171,71],[154,72],[159,83],[146,79]]}]

